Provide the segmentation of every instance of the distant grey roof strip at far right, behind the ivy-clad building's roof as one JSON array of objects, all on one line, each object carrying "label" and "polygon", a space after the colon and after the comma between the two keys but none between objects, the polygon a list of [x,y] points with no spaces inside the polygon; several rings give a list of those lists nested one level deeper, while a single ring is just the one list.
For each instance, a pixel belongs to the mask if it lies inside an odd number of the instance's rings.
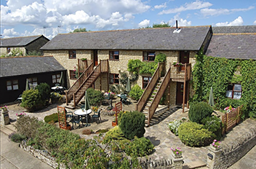
[{"label": "distant grey roof strip at far right, behind the ivy-clad building's roof", "polygon": [[216,26],[212,27],[213,34],[256,33],[256,25],[247,26]]}]

